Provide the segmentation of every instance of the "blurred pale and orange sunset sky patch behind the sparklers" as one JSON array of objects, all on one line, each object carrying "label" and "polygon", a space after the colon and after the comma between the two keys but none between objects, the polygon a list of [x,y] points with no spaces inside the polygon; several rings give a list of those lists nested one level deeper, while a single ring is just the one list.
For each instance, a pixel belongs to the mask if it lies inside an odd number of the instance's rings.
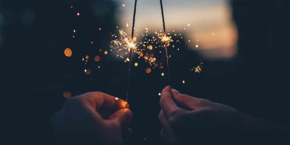
[{"label": "blurred pale and orange sunset sky patch behind the sparklers", "polygon": [[[113,1],[117,4],[118,27],[130,32],[134,1]],[[227,0],[163,1],[166,30],[182,34],[187,48],[197,50],[202,57],[232,58],[237,52],[238,34],[228,2]],[[135,27],[139,29],[139,33],[144,27],[150,28],[151,32],[163,29],[160,1],[137,1]],[[138,35],[139,33],[137,32]],[[199,47],[195,48],[195,45]]]}]

